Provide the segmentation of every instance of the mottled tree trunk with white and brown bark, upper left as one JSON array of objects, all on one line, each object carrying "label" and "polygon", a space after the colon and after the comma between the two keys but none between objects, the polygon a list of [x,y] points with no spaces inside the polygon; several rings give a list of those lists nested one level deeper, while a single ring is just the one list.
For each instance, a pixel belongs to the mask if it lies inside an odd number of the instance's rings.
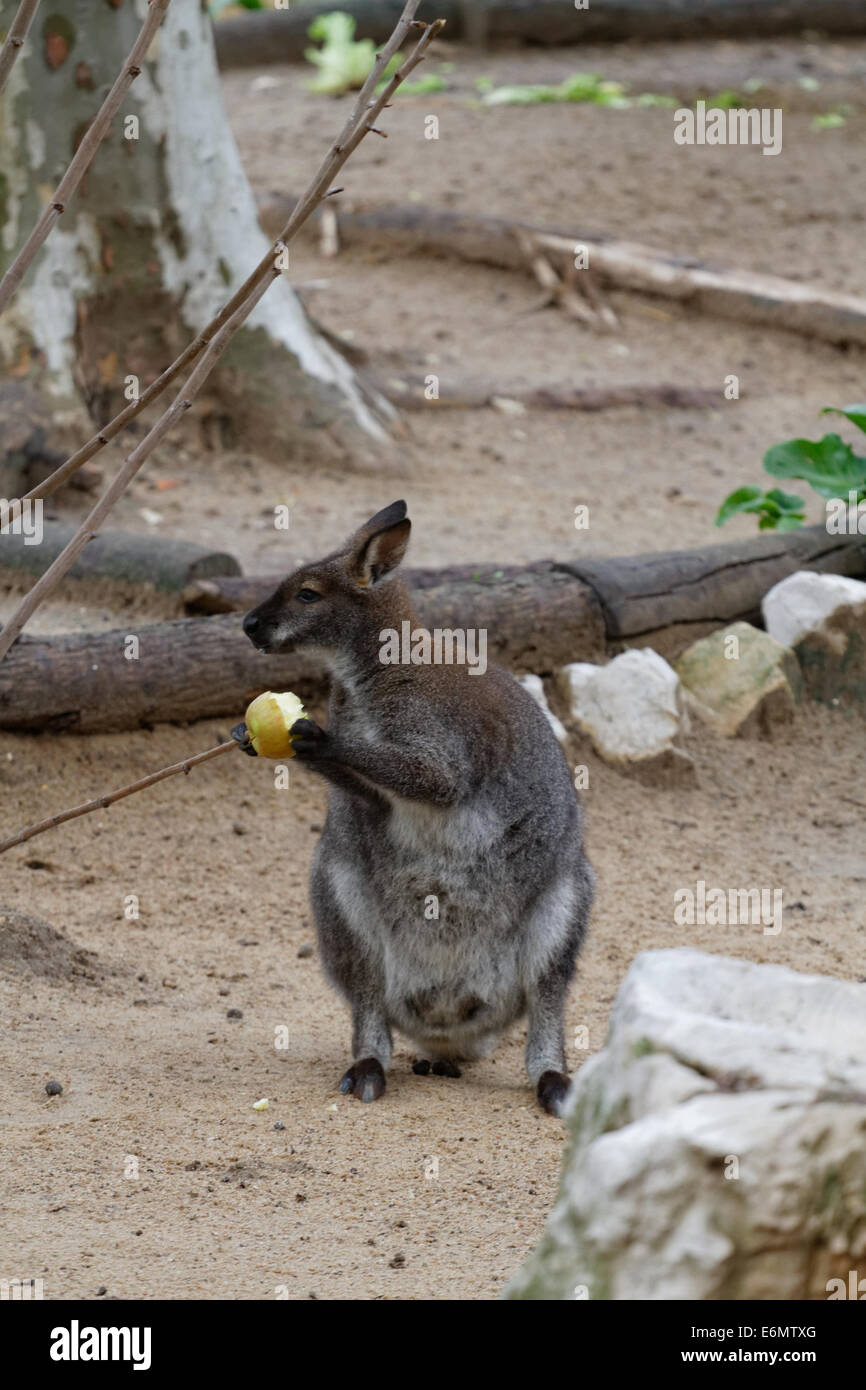
[{"label": "mottled tree trunk with white and brown bark, upper left", "polygon": [[[1,0],[0,28],[15,4]],[[54,0],[38,13],[0,103],[0,268],[57,185],[145,10],[143,0]],[[4,316],[0,356],[57,410],[83,399],[101,424],[209,322],[265,249],[222,108],[210,18],[199,0],[174,0]],[[322,431],[356,448],[364,435],[381,442],[393,420],[285,278],[236,335],[196,411],[211,442],[242,438],[309,459]]]}]

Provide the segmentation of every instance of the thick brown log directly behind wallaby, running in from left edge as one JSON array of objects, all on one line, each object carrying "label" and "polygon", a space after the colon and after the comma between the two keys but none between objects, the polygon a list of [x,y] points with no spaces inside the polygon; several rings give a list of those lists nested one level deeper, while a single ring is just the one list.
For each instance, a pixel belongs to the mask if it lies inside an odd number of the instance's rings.
[{"label": "thick brown log directly behind wallaby, running in from left edge", "polygon": [[[599,660],[605,624],[592,589],[550,562],[502,578],[457,578],[420,589],[416,612],[428,627],[488,632],[488,659],[516,670],[546,670],[574,653]],[[129,637],[138,659],[126,659]],[[154,623],[131,634],[22,635],[0,664],[0,728],[76,733],[239,719],[264,689],[314,699],[318,663],[299,653],[264,656],[238,613]]]}]

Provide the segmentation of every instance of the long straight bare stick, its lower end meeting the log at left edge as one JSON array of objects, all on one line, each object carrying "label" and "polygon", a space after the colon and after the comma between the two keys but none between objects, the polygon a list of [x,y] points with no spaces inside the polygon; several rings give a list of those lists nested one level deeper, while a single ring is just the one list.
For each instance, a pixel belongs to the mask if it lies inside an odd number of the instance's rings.
[{"label": "long straight bare stick, its lower end meeting the log at left edge", "polygon": [[[405,14],[409,14],[410,11],[414,13],[417,4],[418,0],[409,0]],[[357,113],[357,125],[349,131],[343,145],[338,143],[332,146],[332,153],[329,160],[325,160],[322,170],[314,179],[311,189],[307,192],[307,195],[304,195],[302,204],[295,207],[292,215],[289,217],[289,221],[286,222],[289,236],[295,235],[297,228],[303,225],[307,217],[310,217],[314,207],[318,206],[322,197],[328,196],[327,193],[328,183],[334,177],[334,168],[331,167],[331,164],[336,161],[336,167],[342,165],[349,158],[352,152],[357,149],[357,146],[364,139],[367,132],[373,128],[379,111],[388,104],[388,99],[393,95],[400,82],[406,79],[409,72],[411,72],[411,70],[417,67],[418,63],[423,61],[424,49],[431,42],[431,39],[439,32],[443,22],[445,21],[436,19],[432,25],[424,26],[424,33],[418,40],[418,43],[416,44],[413,53],[409,56],[406,63],[402,64],[398,72],[393,74],[393,76],[385,85],[378,99],[375,99],[374,101],[366,101],[363,99],[367,88],[371,85],[375,86],[377,68],[386,64],[391,57],[388,50],[391,47],[391,43],[393,42],[393,36],[389,40],[389,43],[385,44],[385,49],[382,49],[382,51],[379,53],[377,64],[370,76],[367,78],[367,82],[361,89],[359,101],[356,103],[354,110]],[[346,129],[349,129],[349,124],[346,125]],[[341,136],[341,139],[343,139],[343,136]],[[279,270],[274,263],[275,253],[278,250],[285,250],[285,242],[278,242],[268,252],[268,254],[263,257],[263,261],[260,263],[257,270],[253,272],[252,277],[249,277],[249,281],[253,282],[252,291],[249,292],[246,299],[242,300],[242,303],[235,310],[235,313],[228,318],[228,321],[222,324],[215,336],[211,338],[203,356],[199,357],[197,366],[193,368],[186,384],[181,389],[179,395],[175,398],[174,404],[170,406],[170,409],[160,417],[160,420],[157,420],[156,425],[145,436],[145,439],[142,439],[140,445],[138,445],[138,448],[132,450],[124,467],[117,474],[111,486],[103,493],[103,496],[96,503],[96,506],[86,517],[86,520],[82,523],[82,525],[78,528],[78,531],[75,532],[67,548],[57,556],[54,563],[49,566],[44,574],[36,581],[29,594],[26,594],[24,600],[18,605],[17,610],[13,613],[11,619],[0,632],[0,660],[3,660],[10,646],[17,639],[19,632],[24,630],[25,624],[36,612],[42,600],[49,594],[53,592],[53,589],[57,587],[64,574],[67,574],[67,571],[72,567],[72,564],[75,563],[81,552],[85,549],[88,542],[92,539],[92,537],[96,535],[100,525],[111,512],[111,507],[124,493],[124,491],[126,489],[135,474],[139,471],[147,455],[168,432],[168,430],[172,427],[178,416],[181,416],[185,410],[189,409],[193,398],[197,395],[202,385],[204,384],[204,378],[209,375],[211,367],[221,356],[231,336],[236,332],[243,320],[253,310],[256,303],[261,299],[265,289],[279,275]],[[263,265],[264,270],[261,268]],[[174,373],[174,368],[170,368],[170,373],[177,374]],[[164,373],[163,377],[167,377],[167,374]],[[13,507],[14,506],[15,503],[13,503]]]}]

